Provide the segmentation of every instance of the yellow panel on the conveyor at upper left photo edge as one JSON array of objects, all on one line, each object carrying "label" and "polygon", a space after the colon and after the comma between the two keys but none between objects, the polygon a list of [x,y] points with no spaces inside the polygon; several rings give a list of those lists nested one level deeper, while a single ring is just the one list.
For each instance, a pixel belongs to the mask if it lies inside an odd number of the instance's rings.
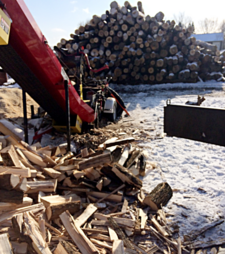
[{"label": "yellow panel on the conveyor at upper left photo edge", "polygon": [[11,20],[0,9],[0,45],[7,45],[9,42],[9,33],[11,27]]}]

